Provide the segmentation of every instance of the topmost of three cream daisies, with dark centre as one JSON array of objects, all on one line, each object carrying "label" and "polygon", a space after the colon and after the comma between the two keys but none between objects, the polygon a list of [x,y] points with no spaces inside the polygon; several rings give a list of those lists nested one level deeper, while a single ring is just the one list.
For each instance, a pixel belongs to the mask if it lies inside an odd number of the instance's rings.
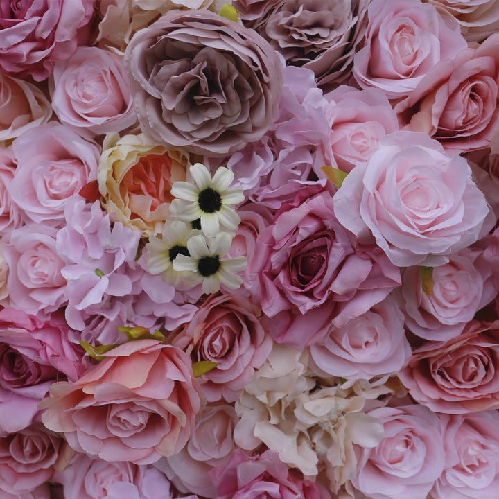
[{"label": "topmost of three cream daisies, with dark centre", "polygon": [[171,202],[170,211],[184,222],[200,219],[201,230],[207,237],[215,236],[220,226],[235,231],[240,218],[229,206],[243,202],[244,194],[240,186],[229,187],[234,173],[220,166],[212,179],[208,168],[201,163],[193,164],[189,171],[198,187],[189,182],[175,182],[171,194],[180,199]]}]

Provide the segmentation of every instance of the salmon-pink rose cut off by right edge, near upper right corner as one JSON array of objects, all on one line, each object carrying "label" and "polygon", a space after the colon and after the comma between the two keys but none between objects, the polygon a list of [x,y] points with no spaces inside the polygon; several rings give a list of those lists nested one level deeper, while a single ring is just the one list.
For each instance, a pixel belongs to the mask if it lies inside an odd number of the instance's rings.
[{"label": "salmon-pink rose cut off by right edge, near upper right corner", "polygon": [[487,147],[499,117],[499,33],[428,69],[395,111],[456,152]]}]

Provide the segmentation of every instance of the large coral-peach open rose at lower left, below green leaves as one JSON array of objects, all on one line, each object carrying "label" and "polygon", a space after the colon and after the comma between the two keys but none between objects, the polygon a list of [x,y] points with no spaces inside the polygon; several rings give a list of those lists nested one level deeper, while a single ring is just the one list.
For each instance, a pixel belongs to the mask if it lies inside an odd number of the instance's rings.
[{"label": "large coral-peach open rose at lower left, below green leaves", "polygon": [[177,453],[195,430],[200,388],[177,347],[135,340],[106,353],[76,383],[55,383],[44,425],[77,452],[150,464]]}]

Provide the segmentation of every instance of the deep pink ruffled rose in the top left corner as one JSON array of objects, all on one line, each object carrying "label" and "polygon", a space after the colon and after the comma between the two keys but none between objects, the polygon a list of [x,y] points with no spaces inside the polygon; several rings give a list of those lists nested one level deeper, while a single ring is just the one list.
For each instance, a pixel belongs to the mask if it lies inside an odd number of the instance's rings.
[{"label": "deep pink ruffled rose in the top left corner", "polygon": [[0,69],[44,80],[55,60],[88,39],[95,0],[3,1],[0,5]]}]

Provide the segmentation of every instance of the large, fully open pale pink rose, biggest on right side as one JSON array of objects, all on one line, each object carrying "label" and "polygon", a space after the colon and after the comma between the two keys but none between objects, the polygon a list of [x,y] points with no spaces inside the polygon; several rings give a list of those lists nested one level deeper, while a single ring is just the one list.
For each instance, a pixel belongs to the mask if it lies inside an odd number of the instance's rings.
[{"label": "large, fully open pale pink rose, biggest on right side", "polygon": [[[334,196],[340,223],[376,240],[400,267],[440,265],[487,233],[489,207],[463,157],[448,157],[428,135],[395,132],[353,168]],[[484,234],[482,234],[484,233]]]}]

